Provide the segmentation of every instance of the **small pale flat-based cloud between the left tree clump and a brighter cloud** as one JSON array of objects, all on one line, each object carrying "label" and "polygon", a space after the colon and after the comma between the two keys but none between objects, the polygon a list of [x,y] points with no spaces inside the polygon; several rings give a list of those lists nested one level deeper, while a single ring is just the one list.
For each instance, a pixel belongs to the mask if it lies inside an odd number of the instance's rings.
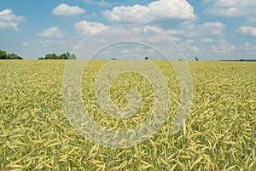
[{"label": "small pale flat-based cloud between the left tree clump and a brighter cloud", "polygon": [[63,33],[61,29],[57,26],[50,27],[49,29],[45,29],[44,31],[41,31],[36,34],[39,37],[45,37],[45,38],[62,38]]}]

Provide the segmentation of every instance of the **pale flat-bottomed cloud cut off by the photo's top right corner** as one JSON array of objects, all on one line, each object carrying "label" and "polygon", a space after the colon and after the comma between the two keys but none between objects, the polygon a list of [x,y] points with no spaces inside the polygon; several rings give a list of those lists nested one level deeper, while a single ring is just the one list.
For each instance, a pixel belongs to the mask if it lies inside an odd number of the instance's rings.
[{"label": "pale flat-bottomed cloud cut off by the photo's top right corner", "polygon": [[205,10],[205,13],[218,16],[241,17],[255,15],[255,8],[256,1],[254,0],[217,0],[211,7]]}]

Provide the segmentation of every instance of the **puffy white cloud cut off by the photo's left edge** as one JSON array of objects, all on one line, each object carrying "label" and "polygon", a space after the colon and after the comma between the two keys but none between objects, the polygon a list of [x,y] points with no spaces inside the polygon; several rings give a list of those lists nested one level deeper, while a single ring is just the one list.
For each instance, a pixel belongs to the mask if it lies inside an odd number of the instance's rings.
[{"label": "puffy white cloud cut off by the photo's left edge", "polygon": [[18,25],[25,20],[25,17],[13,14],[12,9],[3,9],[0,11],[0,30],[14,29],[19,31]]}]

